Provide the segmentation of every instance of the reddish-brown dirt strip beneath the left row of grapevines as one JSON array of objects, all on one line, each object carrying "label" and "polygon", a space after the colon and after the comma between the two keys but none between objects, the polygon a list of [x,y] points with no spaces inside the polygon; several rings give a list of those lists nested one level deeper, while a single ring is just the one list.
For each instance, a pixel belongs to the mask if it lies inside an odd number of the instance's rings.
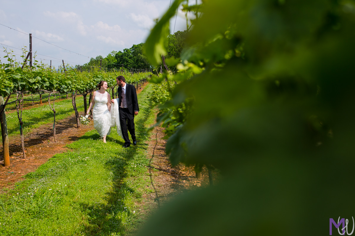
[{"label": "reddish-brown dirt strip beneath the left row of grapevines", "polygon": [[[137,90],[137,94],[143,91],[146,85]],[[76,128],[75,115],[60,120],[55,125],[57,142],[54,142],[52,128],[53,123],[42,125],[24,137],[26,159],[23,159],[20,135],[11,137],[9,140],[10,166],[7,167],[4,167],[2,143],[0,144],[0,194],[6,191],[4,188],[13,188],[16,182],[23,180],[23,175],[35,171],[55,154],[65,152],[67,144],[94,129],[94,124],[90,122],[87,126]]]}]

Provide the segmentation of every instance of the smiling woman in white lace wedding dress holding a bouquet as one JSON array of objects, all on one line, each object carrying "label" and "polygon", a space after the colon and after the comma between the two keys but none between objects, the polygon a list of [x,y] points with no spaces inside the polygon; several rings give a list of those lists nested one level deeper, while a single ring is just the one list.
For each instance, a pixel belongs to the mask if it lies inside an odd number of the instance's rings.
[{"label": "smiling woman in white lace wedding dress holding a bouquet", "polygon": [[106,92],[106,81],[100,81],[97,86],[99,90],[93,92],[91,103],[86,114],[89,115],[89,111],[94,106],[92,110],[94,128],[97,130],[100,137],[103,138],[104,143],[106,143],[106,136],[111,132],[111,97],[110,94]]}]

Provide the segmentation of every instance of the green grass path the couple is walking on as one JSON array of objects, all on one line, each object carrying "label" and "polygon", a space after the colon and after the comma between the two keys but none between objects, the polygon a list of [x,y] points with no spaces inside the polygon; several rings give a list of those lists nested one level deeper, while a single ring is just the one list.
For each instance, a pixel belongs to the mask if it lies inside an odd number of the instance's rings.
[{"label": "green grass path the couple is walking on", "polygon": [[[149,90],[149,85],[146,90]],[[147,127],[154,111],[138,94],[137,145],[122,148],[113,128],[104,144],[89,131],[16,188],[0,196],[0,235],[126,235],[143,217],[144,194],[153,192],[148,174]],[[17,194],[18,193],[18,194]]]}]

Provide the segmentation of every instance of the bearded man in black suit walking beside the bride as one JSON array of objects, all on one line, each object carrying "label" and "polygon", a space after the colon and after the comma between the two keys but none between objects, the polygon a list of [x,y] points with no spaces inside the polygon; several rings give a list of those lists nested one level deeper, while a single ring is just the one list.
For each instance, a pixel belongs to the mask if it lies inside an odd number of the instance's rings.
[{"label": "bearded man in black suit walking beside the bride", "polygon": [[122,129],[122,135],[125,140],[124,148],[128,148],[131,145],[131,141],[128,137],[128,131],[130,132],[133,140],[133,144],[137,144],[135,128],[134,128],[134,116],[138,115],[138,101],[136,88],[133,85],[126,84],[125,77],[122,75],[116,78],[118,86],[118,99],[112,99],[114,103],[118,100],[118,106],[120,111],[120,124]]}]

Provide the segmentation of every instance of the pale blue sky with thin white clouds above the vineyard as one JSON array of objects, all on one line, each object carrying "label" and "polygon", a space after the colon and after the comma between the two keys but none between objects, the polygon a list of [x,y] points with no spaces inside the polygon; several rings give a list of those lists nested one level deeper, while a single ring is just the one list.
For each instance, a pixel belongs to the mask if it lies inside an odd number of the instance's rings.
[{"label": "pale blue sky with thin white clouds above the vineyard", "polygon": [[[87,63],[98,55],[106,57],[113,50],[122,51],[144,42],[153,20],[162,17],[169,5],[170,0],[0,0],[0,43],[3,44],[0,44],[0,59],[6,60],[2,52],[4,45],[11,46],[8,51],[12,49],[13,53],[22,55],[18,48],[28,48],[29,33],[71,51],[32,38],[37,60],[47,64],[52,60],[57,68],[62,59],[74,65]],[[171,33],[174,26],[175,32],[186,29],[186,19],[180,10],[176,24],[175,17],[171,19]],[[20,56],[15,56],[22,61]]]}]

